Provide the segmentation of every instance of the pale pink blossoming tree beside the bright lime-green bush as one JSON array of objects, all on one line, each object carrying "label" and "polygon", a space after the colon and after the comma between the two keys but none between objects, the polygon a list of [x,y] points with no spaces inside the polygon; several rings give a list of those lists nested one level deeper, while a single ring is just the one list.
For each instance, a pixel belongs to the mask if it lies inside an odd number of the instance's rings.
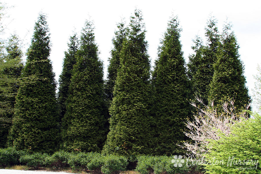
[{"label": "pale pink blossoming tree beside the bright lime-green bush", "polygon": [[[247,111],[235,113],[234,102],[231,101],[223,104],[223,112],[219,114],[212,109],[213,102],[210,106],[206,106],[200,99],[196,99],[203,107],[191,103],[198,111],[194,115],[193,121],[186,123],[189,131],[184,133],[192,142],[185,142],[183,147],[188,151],[187,155],[201,158],[209,150],[207,148],[209,139],[219,139],[220,133],[229,135],[230,125],[235,121],[247,118],[248,113]],[[246,107],[246,110],[248,108],[249,106]]]}]

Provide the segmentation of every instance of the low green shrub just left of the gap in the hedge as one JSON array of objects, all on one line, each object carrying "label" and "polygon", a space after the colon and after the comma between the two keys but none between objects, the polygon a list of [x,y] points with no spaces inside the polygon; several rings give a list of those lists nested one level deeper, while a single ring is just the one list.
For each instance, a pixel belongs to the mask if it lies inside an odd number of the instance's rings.
[{"label": "low green shrub just left of the gap in the hedge", "polygon": [[104,174],[119,174],[126,169],[128,162],[127,158],[116,155],[106,156],[101,172]]}]

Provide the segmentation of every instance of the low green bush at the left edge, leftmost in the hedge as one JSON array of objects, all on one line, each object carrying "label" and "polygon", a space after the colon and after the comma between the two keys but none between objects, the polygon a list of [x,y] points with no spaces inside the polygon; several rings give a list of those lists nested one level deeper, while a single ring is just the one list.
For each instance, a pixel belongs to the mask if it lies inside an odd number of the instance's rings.
[{"label": "low green bush at the left edge, leftmost in the hedge", "polygon": [[0,166],[12,166],[19,164],[19,158],[24,155],[25,151],[17,151],[15,148],[0,149]]}]

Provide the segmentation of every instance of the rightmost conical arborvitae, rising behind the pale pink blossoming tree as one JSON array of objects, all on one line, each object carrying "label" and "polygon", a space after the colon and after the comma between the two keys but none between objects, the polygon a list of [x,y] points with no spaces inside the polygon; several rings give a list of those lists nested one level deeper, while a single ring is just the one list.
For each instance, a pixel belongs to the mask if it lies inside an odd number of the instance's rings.
[{"label": "rightmost conical arborvitae, rising behind the pale pink blossoming tree", "polygon": [[214,102],[217,110],[220,110],[224,102],[234,101],[235,109],[242,111],[250,102],[238,49],[231,25],[227,24],[223,30],[222,44],[218,49],[218,60],[214,64],[214,75],[209,92],[209,102]]}]

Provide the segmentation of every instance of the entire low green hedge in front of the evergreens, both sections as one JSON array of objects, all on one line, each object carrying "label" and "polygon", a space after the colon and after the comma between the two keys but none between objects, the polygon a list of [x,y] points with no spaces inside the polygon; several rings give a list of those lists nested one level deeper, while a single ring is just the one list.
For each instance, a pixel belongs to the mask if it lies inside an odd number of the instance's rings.
[{"label": "entire low green hedge in front of the evergreens, both sections", "polygon": [[[187,174],[200,173],[200,166],[182,165],[175,166],[173,157],[168,156],[147,156],[137,157],[136,171],[140,174]],[[191,162],[188,161],[190,164]],[[58,151],[52,155],[46,153],[28,154],[26,151],[17,151],[14,148],[0,149],[0,166],[27,165],[30,168],[51,167],[55,169],[72,168],[80,171],[95,171],[103,174],[119,174],[126,170],[128,159],[117,155],[101,155],[100,153],[78,152],[69,153]]]}]

